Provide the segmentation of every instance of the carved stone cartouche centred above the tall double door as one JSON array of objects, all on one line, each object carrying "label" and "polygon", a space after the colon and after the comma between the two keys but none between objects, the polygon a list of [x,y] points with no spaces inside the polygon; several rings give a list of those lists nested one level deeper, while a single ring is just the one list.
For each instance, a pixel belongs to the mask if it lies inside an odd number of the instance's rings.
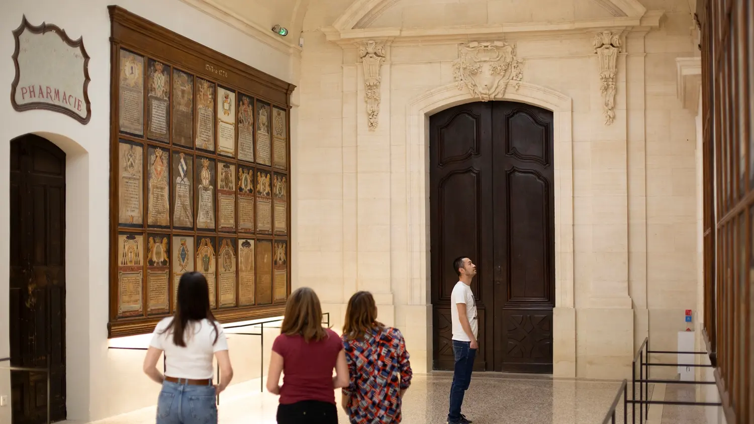
[{"label": "carved stone cartouche centred above the tall double door", "polygon": [[458,44],[453,78],[458,82],[458,90],[467,87],[471,96],[486,102],[504,96],[511,81],[518,90],[522,66],[523,59],[516,57],[516,47],[503,41],[472,41]]}]

